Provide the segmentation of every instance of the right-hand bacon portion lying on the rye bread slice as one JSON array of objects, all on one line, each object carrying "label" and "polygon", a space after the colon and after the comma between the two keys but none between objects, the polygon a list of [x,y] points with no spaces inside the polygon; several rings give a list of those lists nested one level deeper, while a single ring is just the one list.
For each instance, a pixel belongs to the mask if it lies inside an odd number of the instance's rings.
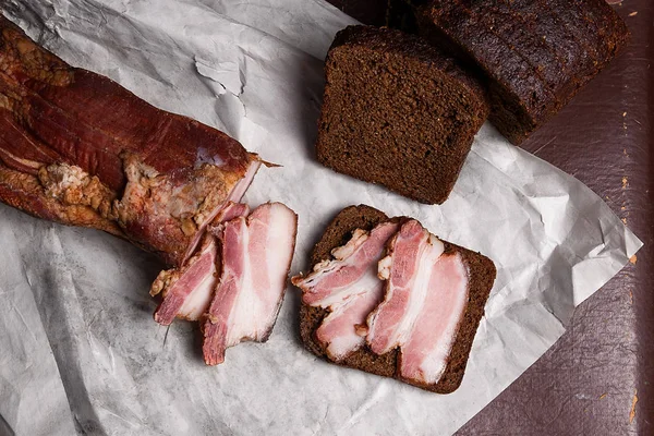
[{"label": "right-hand bacon portion lying on the rye bread slice", "polygon": [[468,303],[468,269],[444,251],[416,220],[402,225],[379,262],[384,301],[367,317],[371,350],[400,347],[400,377],[420,384],[440,379]]}]

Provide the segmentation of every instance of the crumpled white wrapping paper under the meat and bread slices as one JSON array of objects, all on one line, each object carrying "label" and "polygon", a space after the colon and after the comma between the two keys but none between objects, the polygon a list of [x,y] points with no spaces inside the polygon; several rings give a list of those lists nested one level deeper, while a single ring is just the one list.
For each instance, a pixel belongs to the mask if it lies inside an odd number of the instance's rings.
[{"label": "crumpled white wrapping paper under the meat and bread slices", "polygon": [[498,267],[452,395],[317,360],[300,343],[292,288],[267,343],[207,367],[196,325],[152,319],[156,259],[0,205],[0,414],[19,435],[451,434],[642,245],[582,183],[488,124],[441,206],[320,167],[323,59],[353,21],[319,0],[13,0],[4,14],[71,64],[282,165],[262,169],[245,201],[298,213],[293,274],[334,215],[360,203],[415,217]]}]

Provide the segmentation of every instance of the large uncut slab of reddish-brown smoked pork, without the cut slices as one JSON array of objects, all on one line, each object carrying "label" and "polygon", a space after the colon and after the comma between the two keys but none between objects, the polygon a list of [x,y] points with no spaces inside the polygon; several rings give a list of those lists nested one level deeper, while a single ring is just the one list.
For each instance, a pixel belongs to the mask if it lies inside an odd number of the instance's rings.
[{"label": "large uncut slab of reddish-brown smoked pork, without the cut slices", "polygon": [[179,266],[261,159],[73,68],[0,15],[0,201],[128,239]]}]

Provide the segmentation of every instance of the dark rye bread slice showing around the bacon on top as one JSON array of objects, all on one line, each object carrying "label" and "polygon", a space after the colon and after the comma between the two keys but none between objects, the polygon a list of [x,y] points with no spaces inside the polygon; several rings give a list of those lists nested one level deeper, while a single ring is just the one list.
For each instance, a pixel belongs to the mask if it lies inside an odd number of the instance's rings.
[{"label": "dark rye bread slice showing around the bacon on top", "polygon": [[[384,213],[370,206],[359,205],[346,207],[336,216],[336,218],[334,218],[329,226],[327,226],[325,233],[314,246],[311,256],[312,265],[315,265],[320,261],[330,259],[331,250],[346,244],[354,229],[370,231],[378,223],[387,220],[389,220],[389,218]],[[488,299],[488,294],[491,293],[491,289],[493,288],[493,282],[495,281],[496,269],[488,257],[458,245],[450,244],[449,242],[443,242],[445,244],[445,253],[459,252],[470,270],[469,302],[463,315],[463,320],[457,332],[457,339],[452,347],[447,367],[440,380],[433,385],[421,385],[407,380],[402,382],[432,392],[449,393],[456,390],[463,379],[463,373],[465,371],[465,364],[468,363],[472,341],[482,316],[484,315],[484,306]],[[300,307],[300,336],[308,351],[329,362],[337,363],[327,356],[323,346],[315,339],[315,331],[328,313],[329,312],[326,308],[302,304]],[[367,346],[364,346],[350,353],[342,362],[337,364],[385,377],[398,378],[398,354],[399,350],[395,349],[388,353],[377,355],[373,353]]]}]

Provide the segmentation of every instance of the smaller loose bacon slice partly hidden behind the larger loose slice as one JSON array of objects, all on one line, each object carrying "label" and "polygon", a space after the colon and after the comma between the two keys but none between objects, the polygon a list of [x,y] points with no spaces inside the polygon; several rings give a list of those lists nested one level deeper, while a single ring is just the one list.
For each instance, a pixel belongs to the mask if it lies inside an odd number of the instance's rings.
[{"label": "smaller loose bacon slice partly hidden behind the larger loose slice", "polygon": [[[250,214],[242,203],[228,203],[214,218],[210,227]],[[164,326],[175,317],[198,320],[207,312],[218,281],[219,253],[216,238],[205,233],[199,251],[184,266],[159,272],[150,289],[150,295],[164,294],[155,312],[155,320]]]}]

